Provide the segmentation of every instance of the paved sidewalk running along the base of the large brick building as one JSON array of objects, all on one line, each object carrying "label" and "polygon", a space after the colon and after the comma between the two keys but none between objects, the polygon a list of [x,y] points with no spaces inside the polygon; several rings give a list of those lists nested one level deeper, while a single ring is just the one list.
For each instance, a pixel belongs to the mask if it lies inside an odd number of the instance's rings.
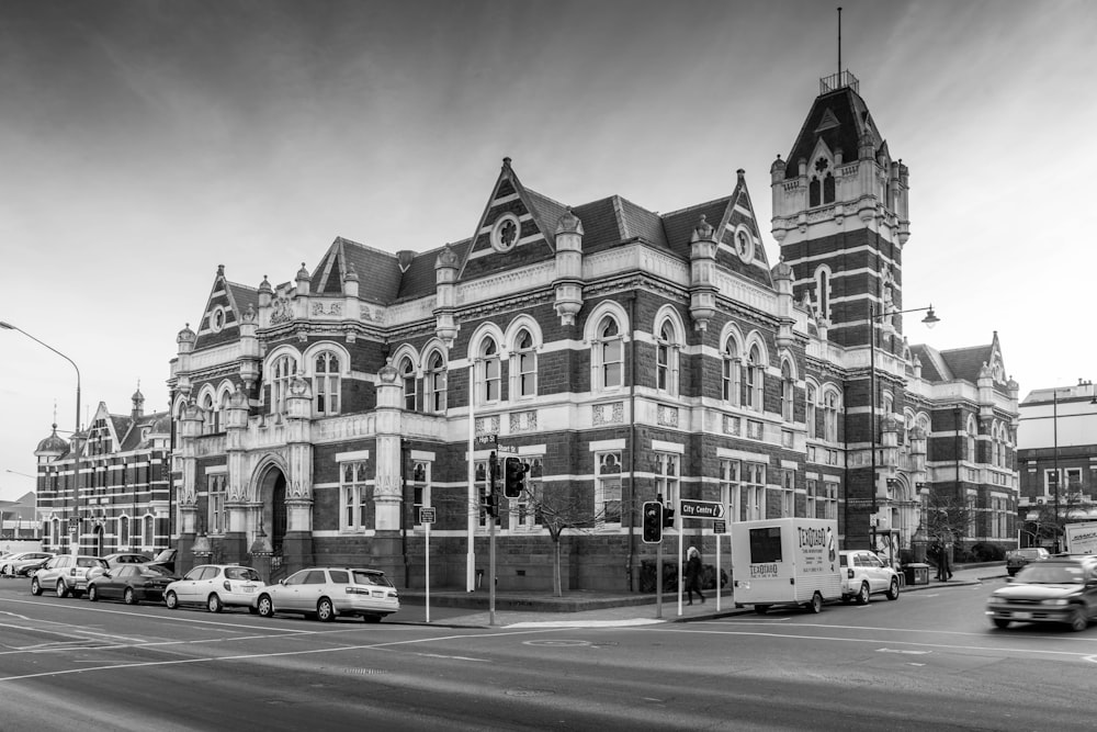
[{"label": "paved sidewalk running along the base of the large brick building", "polygon": [[[928,585],[907,585],[903,593],[914,593],[925,589],[942,589],[945,587],[970,587],[979,585],[983,579],[993,579],[1006,575],[1005,562],[986,564],[958,565],[953,568],[952,579],[938,582],[930,573]],[[444,620],[432,621],[431,626],[452,628],[490,628],[490,627],[542,627],[542,628],[597,628],[599,626],[633,626],[656,622],[688,622],[690,620],[712,620],[728,616],[750,613],[754,610],[736,608],[732,588],[725,587],[720,598],[720,609],[716,609],[716,593],[705,590],[705,601],[694,601],[692,606],[682,599],[681,615],[678,615],[678,594],[663,596],[663,613],[658,616],[655,594],[613,594],[575,590],[564,597],[554,597],[548,593],[496,592],[495,624],[490,622],[487,590],[464,593],[454,589],[431,590],[430,606],[465,607],[468,615]],[[422,606],[422,590],[400,590],[400,599],[405,607]],[[411,624],[426,624],[422,621],[397,621]]]}]

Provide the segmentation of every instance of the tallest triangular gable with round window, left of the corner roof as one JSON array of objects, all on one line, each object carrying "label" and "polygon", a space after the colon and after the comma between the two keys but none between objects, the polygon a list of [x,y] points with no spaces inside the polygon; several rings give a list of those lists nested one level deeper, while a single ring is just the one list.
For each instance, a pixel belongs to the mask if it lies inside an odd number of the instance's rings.
[{"label": "tallest triangular gable with round window, left of the corner roof", "polygon": [[[553,233],[564,209],[547,196],[527,191],[510,158],[504,158],[457,278],[483,277],[552,257]],[[557,211],[555,219],[547,221]]]}]

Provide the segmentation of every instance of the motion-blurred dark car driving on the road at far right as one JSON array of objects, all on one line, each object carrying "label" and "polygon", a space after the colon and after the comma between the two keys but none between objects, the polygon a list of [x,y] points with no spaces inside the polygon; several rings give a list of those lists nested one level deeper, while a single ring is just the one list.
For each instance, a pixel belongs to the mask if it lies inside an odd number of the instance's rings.
[{"label": "motion-blurred dark car driving on the road at far right", "polygon": [[1083,631],[1097,617],[1097,556],[1032,562],[991,593],[986,615],[995,628],[1011,622],[1059,622]]}]

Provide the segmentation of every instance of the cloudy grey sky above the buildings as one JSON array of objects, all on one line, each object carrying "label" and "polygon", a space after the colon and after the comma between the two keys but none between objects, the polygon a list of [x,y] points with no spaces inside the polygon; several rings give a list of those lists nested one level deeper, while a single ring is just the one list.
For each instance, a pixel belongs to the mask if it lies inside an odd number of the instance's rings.
[{"label": "cloudy grey sky above the buildings", "polygon": [[[911,169],[912,344],[988,344],[1020,396],[1097,379],[1097,3],[841,0],[841,66]],[[769,167],[838,69],[837,2],[0,3],[0,320],[100,402],[168,406],[218,264],[473,234],[504,157],[573,205],[670,212]],[[1087,234],[1086,232],[1090,232]],[[76,421],[77,370],[0,329],[0,499]]]}]

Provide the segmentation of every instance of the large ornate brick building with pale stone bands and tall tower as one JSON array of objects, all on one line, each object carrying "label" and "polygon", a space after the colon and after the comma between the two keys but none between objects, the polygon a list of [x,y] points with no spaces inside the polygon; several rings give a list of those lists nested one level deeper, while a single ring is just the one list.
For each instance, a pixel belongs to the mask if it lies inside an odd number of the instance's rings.
[{"label": "large ornate brick building with pale stone bands and tall tower", "polygon": [[[581,525],[563,534],[565,588],[638,589],[657,494],[733,521],[830,517],[846,547],[901,549],[950,494],[971,509],[958,539],[1015,544],[1017,385],[996,336],[907,342],[909,173],[857,79],[823,80],[791,150],[770,170],[776,263],[742,170],[658,214],[565,205],[508,158],[467,239],[337,238],[281,284],[218,268],[169,380],[181,564],[195,541],[227,561],[269,541],[275,577],[369,563],[419,586],[433,506],[432,584],[471,587],[488,436],[530,469],[501,500],[499,587],[551,586],[557,521]],[[681,530],[711,561],[711,522]]]}]

